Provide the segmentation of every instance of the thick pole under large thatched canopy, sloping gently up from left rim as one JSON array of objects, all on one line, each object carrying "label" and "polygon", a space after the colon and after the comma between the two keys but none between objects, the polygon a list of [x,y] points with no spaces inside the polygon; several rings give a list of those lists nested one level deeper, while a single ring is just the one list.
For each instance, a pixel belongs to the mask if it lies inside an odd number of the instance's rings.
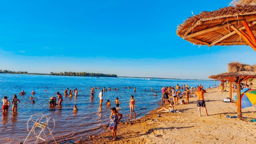
[{"label": "thick pole under large thatched canopy, sloping gently up from left rim", "polygon": [[212,31],[215,31],[215,30],[218,30],[218,29],[221,29],[221,28],[226,28],[226,27],[230,27],[231,24],[224,24],[224,25],[217,25],[217,26],[214,26],[214,27],[210,27],[210,28],[205,28],[203,30],[200,30],[200,31],[197,31],[197,32],[194,32],[188,36],[185,36],[185,34],[182,36],[183,39],[189,39],[189,38],[192,38],[192,37],[195,37],[195,36],[200,36],[200,35],[203,35],[205,33],[209,33],[209,32],[212,32]]}]

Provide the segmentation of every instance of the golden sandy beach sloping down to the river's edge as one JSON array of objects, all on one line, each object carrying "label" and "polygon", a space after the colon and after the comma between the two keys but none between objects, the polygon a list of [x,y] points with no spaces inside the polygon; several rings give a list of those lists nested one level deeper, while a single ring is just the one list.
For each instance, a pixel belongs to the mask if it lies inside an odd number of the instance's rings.
[{"label": "golden sandy beach sloping down to the river's edge", "polygon": [[[251,86],[255,88],[255,84]],[[232,99],[236,92],[232,93]],[[154,144],[154,143],[255,143],[256,123],[250,119],[256,118],[254,107],[242,109],[243,117],[248,119],[226,118],[237,112],[235,103],[225,103],[229,92],[220,92],[214,88],[207,90],[204,95],[209,116],[201,109],[198,116],[197,98],[190,98],[188,105],[177,105],[174,109],[183,110],[183,113],[165,113],[152,110],[142,118],[118,124],[117,140],[112,140],[111,131],[103,129],[96,135],[77,140],[76,144]],[[168,106],[166,106],[167,108]],[[158,114],[165,115],[157,117]]]}]

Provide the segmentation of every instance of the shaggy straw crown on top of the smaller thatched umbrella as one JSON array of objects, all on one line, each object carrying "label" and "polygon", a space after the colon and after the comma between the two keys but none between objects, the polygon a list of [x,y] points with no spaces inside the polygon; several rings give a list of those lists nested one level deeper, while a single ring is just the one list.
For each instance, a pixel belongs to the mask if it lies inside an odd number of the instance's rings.
[{"label": "shaggy straw crown on top of the smaller thatched umbrella", "polygon": [[228,63],[228,73],[236,73],[240,71],[255,71],[255,68],[251,65],[243,64],[238,61]]}]

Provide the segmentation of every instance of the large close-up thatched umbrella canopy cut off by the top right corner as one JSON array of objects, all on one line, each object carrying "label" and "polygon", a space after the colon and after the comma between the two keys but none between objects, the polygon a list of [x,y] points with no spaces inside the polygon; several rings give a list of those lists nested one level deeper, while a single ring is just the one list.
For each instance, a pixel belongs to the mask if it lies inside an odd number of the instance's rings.
[{"label": "large close-up thatched umbrella canopy cut off by the top right corner", "polygon": [[[236,5],[188,18],[176,33],[197,45],[250,45],[256,51],[256,0],[233,1]],[[246,31],[244,31],[244,29]]]}]

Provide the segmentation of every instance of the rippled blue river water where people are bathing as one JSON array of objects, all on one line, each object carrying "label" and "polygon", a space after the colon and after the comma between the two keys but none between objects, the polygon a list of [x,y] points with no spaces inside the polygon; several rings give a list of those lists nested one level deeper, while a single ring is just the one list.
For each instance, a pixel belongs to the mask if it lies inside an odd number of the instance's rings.
[{"label": "rippled blue river water where people are bathing", "polygon": [[[85,136],[90,132],[95,132],[95,128],[101,125],[108,124],[110,108],[114,107],[114,100],[119,97],[121,109],[119,113],[124,115],[124,119],[138,118],[145,115],[150,110],[159,106],[161,96],[154,96],[157,92],[160,95],[160,90],[163,85],[183,85],[196,86],[202,84],[204,87],[209,87],[217,84],[216,81],[195,81],[195,80],[171,80],[171,79],[143,79],[143,78],[108,78],[108,77],[82,77],[82,76],[41,76],[41,75],[18,75],[18,74],[0,74],[1,97],[8,96],[12,102],[12,95],[19,94],[24,90],[27,95],[18,96],[20,104],[18,104],[18,111],[2,112],[0,124],[0,143],[19,143],[23,142],[28,135],[27,121],[32,114],[43,113],[49,114],[55,119],[56,127],[53,131],[53,136],[59,142],[70,138],[77,138]],[[90,97],[91,87],[100,87],[101,89],[111,87],[111,91],[104,92],[104,101],[110,100],[111,107],[102,105],[99,106],[98,93],[100,90],[96,89],[96,96]],[[125,89],[124,87],[136,87],[136,93],[133,88]],[[119,90],[114,91],[114,88]],[[151,91],[151,87],[154,91]],[[69,88],[71,90],[77,88],[78,96],[70,98],[64,97],[64,90]],[[147,91],[145,91],[145,89]],[[35,90],[34,96],[35,104],[30,100],[31,92]],[[46,91],[45,91],[46,90]],[[49,108],[49,99],[56,96],[56,92],[63,95],[64,101],[62,106]],[[74,92],[73,92],[73,95]],[[135,116],[128,116],[130,113],[129,100],[131,95],[136,100]],[[77,106],[78,112],[73,113],[74,105]],[[11,105],[12,107],[12,105]],[[10,108],[11,108],[10,107]],[[92,130],[94,129],[94,130]],[[99,129],[98,129],[99,130]],[[7,139],[11,141],[7,141]],[[17,140],[13,140],[17,139]],[[29,142],[32,143],[29,139]]]}]

